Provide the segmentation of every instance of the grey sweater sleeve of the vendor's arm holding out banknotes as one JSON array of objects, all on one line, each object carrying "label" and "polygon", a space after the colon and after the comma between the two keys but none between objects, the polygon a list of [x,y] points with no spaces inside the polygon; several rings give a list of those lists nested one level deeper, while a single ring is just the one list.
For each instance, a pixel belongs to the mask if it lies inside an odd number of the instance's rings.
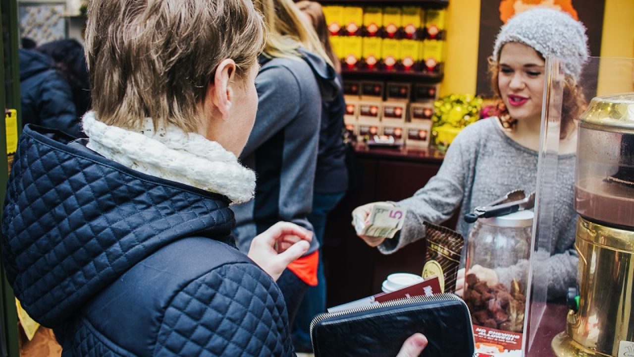
[{"label": "grey sweater sleeve of the vendor's arm holding out banknotes", "polygon": [[378,246],[384,254],[394,253],[403,246],[425,236],[425,220],[434,224],[451,218],[460,206],[469,180],[469,170],[474,166],[474,153],[470,142],[475,138],[463,130],[449,147],[443,165],[436,176],[419,189],[411,198],[394,202],[396,206],[407,208],[403,229],[392,239],[385,239]]}]

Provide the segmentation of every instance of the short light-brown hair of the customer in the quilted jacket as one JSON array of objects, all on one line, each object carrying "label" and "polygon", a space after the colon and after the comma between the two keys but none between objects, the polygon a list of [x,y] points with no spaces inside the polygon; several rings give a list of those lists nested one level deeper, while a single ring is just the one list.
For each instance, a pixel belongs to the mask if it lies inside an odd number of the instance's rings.
[{"label": "short light-brown hair of the customer in the quilted jacket", "polygon": [[93,110],[100,121],[197,132],[217,66],[245,80],[266,27],[250,0],[91,0],[86,28]]}]

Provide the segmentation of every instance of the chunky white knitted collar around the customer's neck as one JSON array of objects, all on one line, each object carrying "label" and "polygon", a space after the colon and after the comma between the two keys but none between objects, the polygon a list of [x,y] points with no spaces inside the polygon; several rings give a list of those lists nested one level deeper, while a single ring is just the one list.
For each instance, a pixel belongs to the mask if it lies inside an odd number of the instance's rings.
[{"label": "chunky white knitted collar around the customer's neck", "polygon": [[82,119],[87,147],[133,170],[227,196],[233,203],[253,198],[256,174],[217,142],[176,126],[154,131],[147,118],[140,131],[105,125],[87,112]]}]

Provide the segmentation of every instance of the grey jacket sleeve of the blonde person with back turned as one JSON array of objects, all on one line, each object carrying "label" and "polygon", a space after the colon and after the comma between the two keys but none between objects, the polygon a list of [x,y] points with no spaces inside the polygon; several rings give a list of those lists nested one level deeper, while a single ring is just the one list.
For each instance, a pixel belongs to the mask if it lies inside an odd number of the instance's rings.
[{"label": "grey jacket sleeve of the blonde person with back turned", "polygon": [[252,154],[293,120],[302,98],[299,79],[283,64],[262,67],[256,77],[256,89],[256,124],[242,150],[242,157]]}]

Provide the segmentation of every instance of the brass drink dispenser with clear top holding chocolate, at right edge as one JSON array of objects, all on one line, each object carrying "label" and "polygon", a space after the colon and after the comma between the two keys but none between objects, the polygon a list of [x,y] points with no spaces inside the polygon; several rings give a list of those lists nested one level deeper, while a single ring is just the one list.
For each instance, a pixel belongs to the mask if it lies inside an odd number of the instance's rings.
[{"label": "brass drink dispenser with clear top holding chocolate, at right edge", "polygon": [[593,98],[581,116],[574,208],[578,311],[553,351],[634,356],[634,93]]}]

